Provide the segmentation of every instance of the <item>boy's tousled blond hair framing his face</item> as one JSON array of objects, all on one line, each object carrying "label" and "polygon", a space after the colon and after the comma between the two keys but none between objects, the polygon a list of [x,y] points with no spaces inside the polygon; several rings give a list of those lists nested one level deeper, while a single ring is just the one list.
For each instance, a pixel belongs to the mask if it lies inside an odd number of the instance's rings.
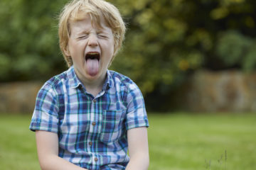
[{"label": "boy's tousled blond hair framing his face", "polygon": [[[65,61],[68,67],[73,65],[73,60],[70,56],[65,55],[68,51],[68,40],[70,38],[70,21],[80,21],[89,14],[92,22],[101,27],[100,18],[103,18],[107,26],[112,29],[114,35],[114,56],[122,47],[125,34],[125,24],[118,9],[104,0],[73,0],[66,4],[63,11],[60,13],[58,35],[60,42],[60,50],[63,52]],[[114,59],[112,57],[112,60]],[[112,62],[111,60],[111,62]],[[110,62],[110,63],[111,63]]]}]

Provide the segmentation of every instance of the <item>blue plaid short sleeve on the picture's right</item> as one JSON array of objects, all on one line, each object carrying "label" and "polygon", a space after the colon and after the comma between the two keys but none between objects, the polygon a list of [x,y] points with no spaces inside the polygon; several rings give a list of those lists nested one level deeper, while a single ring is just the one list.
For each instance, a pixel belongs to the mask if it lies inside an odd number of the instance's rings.
[{"label": "blue plaid short sleeve on the picture's right", "polygon": [[149,127],[144,98],[136,84],[129,85],[125,127],[127,130],[139,127]]}]

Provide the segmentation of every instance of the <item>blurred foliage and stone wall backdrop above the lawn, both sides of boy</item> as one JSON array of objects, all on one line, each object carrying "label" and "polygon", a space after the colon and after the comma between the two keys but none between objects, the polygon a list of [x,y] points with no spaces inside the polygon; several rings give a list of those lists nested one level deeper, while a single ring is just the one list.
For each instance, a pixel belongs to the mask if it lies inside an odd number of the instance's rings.
[{"label": "blurred foliage and stone wall backdrop above the lawn, both sides of boy", "polygon": [[[0,111],[33,111],[38,88],[67,69],[58,46],[66,2],[1,0]],[[110,2],[128,28],[110,69],[138,84],[148,111],[256,110],[256,1]]]}]

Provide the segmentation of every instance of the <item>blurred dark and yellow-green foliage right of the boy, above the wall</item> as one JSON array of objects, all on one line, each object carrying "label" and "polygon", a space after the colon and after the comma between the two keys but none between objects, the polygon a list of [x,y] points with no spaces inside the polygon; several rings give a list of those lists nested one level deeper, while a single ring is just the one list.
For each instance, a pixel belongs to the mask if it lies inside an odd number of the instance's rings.
[{"label": "blurred dark and yellow-green foliage right of the boy, above the wall", "polygon": [[[120,8],[129,28],[112,68],[132,77],[145,94],[166,94],[189,72],[202,67],[255,69],[253,1],[112,3]],[[230,30],[238,30],[235,40]]]}]

